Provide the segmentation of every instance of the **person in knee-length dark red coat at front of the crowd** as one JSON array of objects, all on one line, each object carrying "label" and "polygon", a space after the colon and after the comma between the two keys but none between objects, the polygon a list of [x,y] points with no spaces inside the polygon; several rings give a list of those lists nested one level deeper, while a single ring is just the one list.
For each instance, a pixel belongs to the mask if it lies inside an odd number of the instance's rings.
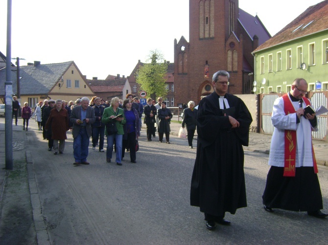
[{"label": "person in knee-length dark red coat at front of the crowd", "polygon": [[62,100],[56,100],[56,107],[50,111],[50,115],[46,123],[46,130],[51,130],[54,155],[57,155],[58,151],[59,154],[63,154],[65,149],[65,140],[67,139],[66,131],[70,129],[69,115],[67,110],[63,108],[62,103]]}]

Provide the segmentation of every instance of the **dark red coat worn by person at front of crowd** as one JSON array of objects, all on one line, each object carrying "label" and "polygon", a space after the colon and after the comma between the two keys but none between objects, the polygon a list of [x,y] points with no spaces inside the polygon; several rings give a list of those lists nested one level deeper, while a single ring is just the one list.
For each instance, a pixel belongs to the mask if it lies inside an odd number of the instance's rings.
[{"label": "dark red coat worn by person at front of crowd", "polygon": [[67,110],[61,108],[60,111],[57,111],[56,107],[53,108],[50,111],[45,129],[52,131],[52,140],[66,140],[66,131],[69,130],[69,115]]}]

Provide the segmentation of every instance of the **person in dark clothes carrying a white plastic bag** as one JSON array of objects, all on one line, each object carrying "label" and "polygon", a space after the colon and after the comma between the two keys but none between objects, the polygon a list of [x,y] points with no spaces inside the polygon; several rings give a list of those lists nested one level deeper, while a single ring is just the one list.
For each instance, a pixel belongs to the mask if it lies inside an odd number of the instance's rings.
[{"label": "person in dark clothes carrying a white plastic bag", "polygon": [[196,119],[197,119],[197,109],[194,108],[195,102],[189,101],[188,107],[183,110],[183,120],[182,120],[182,127],[185,128],[187,126],[187,138],[189,148],[193,148],[192,146],[192,139],[195,134],[196,129]]}]

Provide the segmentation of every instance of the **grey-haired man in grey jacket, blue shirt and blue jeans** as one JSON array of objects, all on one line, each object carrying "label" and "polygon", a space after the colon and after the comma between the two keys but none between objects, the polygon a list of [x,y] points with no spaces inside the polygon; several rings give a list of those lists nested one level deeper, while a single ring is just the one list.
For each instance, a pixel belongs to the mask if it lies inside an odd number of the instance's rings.
[{"label": "grey-haired man in grey jacket, blue shirt and blue jeans", "polygon": [[89,106],[88,97],[83,97],[79,101],[80,105],[73,107],[70,114],[70,122],[73,123],[73,155],[74,165],[90,163],[87,162],[89,154],[89,143],[91,137],[91,124],[95,121],[94,108]]}]

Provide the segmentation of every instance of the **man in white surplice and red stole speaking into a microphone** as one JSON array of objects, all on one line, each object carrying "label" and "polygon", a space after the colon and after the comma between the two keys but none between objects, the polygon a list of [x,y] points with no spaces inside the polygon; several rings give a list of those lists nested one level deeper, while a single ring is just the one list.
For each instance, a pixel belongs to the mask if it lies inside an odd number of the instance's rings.
[{"label": "man in white surplice and red stole speaking into a microphone", "polygon": [[311,131],[318,131],[315,114],[304,108],[311,105],[305,98],[307,82],[298,78],[291,91],[273,105],[269,170],[262,196],[264,209],[307,211],[308,215],[325,218]]}]

